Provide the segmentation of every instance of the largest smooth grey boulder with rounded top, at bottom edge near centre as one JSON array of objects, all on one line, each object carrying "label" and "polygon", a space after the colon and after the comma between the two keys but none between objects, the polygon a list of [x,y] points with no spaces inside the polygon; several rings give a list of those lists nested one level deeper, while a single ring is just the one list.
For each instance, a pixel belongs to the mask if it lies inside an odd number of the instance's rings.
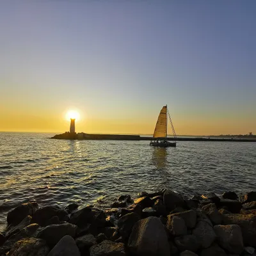
[{"label": "largest smooth grey boulder with rounded top, at bottom edge near centre", "polygon": [[127,246],[134,255],[170,256],[166,230],[157,217],[137,221],[132,228]]}]

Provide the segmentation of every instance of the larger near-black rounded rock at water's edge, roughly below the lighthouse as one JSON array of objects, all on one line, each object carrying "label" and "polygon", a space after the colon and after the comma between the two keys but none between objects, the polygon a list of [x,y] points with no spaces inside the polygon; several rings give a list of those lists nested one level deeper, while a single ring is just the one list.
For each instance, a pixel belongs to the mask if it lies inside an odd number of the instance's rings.
[{"label": "larger near-black rounded rock at water's edge, roughly below the lighthouse", "polygon": [[90,207],[84,207],[70,216],[69,223],[77,225],[78,227],[85,227],[93,220],[93,212]]}]

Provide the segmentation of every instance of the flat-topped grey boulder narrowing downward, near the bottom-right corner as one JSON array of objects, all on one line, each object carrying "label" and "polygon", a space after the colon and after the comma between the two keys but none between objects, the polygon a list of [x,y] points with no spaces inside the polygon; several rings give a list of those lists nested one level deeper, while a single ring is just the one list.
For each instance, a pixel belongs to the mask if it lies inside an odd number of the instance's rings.
[{"label": "flat-topped grey boulder narrowing downward, near the bottom-right corner", "polygon": [[238,225],[216,225],[214,231],[222,248],[230,253],[243,252],[243,236]]}]

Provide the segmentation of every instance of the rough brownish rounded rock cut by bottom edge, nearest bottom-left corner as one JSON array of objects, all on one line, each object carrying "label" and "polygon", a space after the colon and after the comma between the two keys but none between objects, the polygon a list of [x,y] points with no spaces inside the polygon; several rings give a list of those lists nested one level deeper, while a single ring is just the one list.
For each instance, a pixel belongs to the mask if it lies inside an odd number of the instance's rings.
[{"label": "rough brownish rounded rock cut by bottom edge, nearest bottom-left corner", "polygon": [[49,247],[44,240],[31,237],[17,241],[8,256],[46,256],[48,253]]}]

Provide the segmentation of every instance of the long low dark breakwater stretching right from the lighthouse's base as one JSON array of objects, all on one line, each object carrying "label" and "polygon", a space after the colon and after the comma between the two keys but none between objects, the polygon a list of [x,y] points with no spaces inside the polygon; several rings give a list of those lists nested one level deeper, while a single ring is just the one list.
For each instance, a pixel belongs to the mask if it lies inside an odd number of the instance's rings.
[{"label": "long low dark breakwater stretching right from the lighthouse's base", "polygon": [[[56,134],[51,139],[57,140],[156,140],[150,136],[140,135],[120,135],[120,134],[88,134],[84,132],[65,132]],[[236,139],[236,138],[166,138],[168,141],[230,141],[230,142],[256,142],[255,139]]]}]

